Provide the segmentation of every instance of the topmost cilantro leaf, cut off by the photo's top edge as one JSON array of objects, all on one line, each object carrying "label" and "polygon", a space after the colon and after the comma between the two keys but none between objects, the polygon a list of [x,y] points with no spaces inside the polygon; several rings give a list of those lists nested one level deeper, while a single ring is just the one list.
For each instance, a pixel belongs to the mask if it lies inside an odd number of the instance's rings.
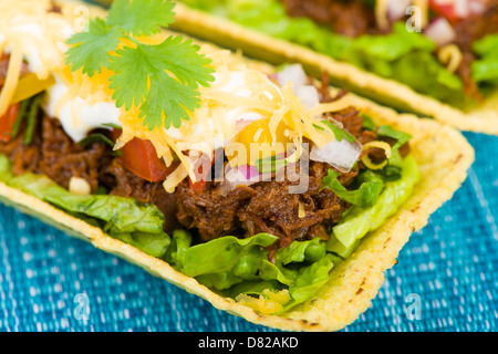
[{"label": "topmost cilantro leaf, cut off by the photo's top edge", "polygon": [[165,0],[114,1],[107,15],[107,24],[133,35],[158,33],[174,20],[175,3]]}]

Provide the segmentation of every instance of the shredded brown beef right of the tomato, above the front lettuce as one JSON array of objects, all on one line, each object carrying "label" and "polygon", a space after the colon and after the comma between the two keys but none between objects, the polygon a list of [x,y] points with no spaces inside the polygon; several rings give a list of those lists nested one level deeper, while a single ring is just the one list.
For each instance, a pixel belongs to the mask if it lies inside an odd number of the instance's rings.
[{"label": "shredded brown beef right of the tomato, above the front lettuce", "polygon": [[[238,187],[228,195],[216,183],[208,183],[197,194],[188,181],[183,181],[175,191],[177,217],[185,227],[198,230],[204,241],[227,235],[269,232],[278,236],[279,248],[284,248],[295,239],[328,239],[328,227],[336,223],[347,208],[332,191],[320,190],[329,168],[312,163],[309,188],[299,195],[289,192],[292,183],[288,179]],[[299,216],[300,208],[305,211],[304,217]]]}]

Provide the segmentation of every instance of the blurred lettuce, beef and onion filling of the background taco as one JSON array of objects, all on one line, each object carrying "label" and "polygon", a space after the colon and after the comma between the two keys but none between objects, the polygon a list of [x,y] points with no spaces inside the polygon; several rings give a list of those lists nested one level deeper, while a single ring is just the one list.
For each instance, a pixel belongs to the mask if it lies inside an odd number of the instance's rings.
[{"label": "blurred lettuce, beef and onion filling of the background taco", "polygon": [[496,0],[183,0],[457,107],[498,84]]}]

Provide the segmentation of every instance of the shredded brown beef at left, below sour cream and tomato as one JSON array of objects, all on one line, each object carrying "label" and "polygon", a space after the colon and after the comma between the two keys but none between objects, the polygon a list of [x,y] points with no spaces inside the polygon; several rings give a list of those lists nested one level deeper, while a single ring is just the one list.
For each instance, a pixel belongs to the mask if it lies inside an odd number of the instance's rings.
[{"label": "shredded brown beef at left, below sour cream and tomato", "polygon": [[[166,231],[179,227],[174,195],[166,192],[160,183],[149,183],[124,168],[122,158],[113,156],[105,143],[93,143],[83,148],[65,134],[59,119],[50,118],[42,112],[34,132],[30,144],[23,142],[24,126],[14,139],[0,142],[0,154],[12,162],[14,175],[46,175],[65,188],[72,177],[81,177],[90,184],[92,191],[103,186],[111,195],[156,205],[165,215]],[[105,131],[98,133],[108,134]]]}]

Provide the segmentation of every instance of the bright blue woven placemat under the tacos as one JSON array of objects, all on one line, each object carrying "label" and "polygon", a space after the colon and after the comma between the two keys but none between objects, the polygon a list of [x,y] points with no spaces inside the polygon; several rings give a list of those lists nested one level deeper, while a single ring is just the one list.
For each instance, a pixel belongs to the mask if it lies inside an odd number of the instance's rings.
[{"label": "bright blue woven placemat under the tacos", "polygon": [[[469,177],[344,331],[498,330],[498,137],[466,136]],[[0,206],[0,331],[272,330]]]}]

